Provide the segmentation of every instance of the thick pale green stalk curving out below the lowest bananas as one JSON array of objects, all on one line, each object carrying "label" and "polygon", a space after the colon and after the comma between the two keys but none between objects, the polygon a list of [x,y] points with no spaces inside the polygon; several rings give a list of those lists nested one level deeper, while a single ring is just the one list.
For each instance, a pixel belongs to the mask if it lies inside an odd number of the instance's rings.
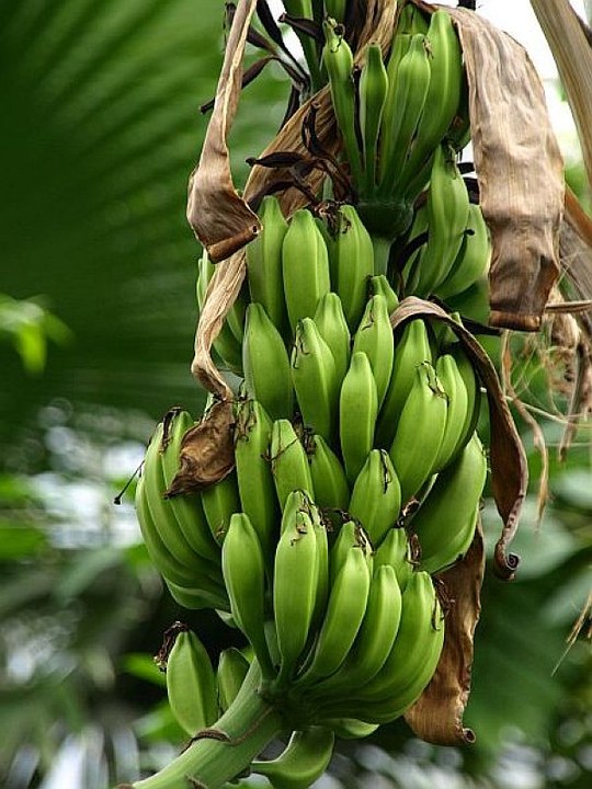
[{"label": "thick pale green stalk curving out below the lowest bananas", "polygon": [[260,697],[259,683],[252,682],[253,665],[235,701],[207,730],[209,736],[196,740],[160,773],[118,789],[187,789],[190,784],[219,789],[248,770],[286,728],[281,712]]}]

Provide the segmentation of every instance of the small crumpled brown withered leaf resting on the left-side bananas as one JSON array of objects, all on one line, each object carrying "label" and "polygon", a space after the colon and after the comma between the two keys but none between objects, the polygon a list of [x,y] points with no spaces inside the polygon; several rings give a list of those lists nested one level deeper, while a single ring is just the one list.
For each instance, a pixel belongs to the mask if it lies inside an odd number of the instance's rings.
[{"label": "small crumpled brown withered leaf resting on the left-side bananas", "polygon": [[235,468],[232,403],[215,403],[181,443],[180,470],[166,495],[186,495],[215,484]]}]

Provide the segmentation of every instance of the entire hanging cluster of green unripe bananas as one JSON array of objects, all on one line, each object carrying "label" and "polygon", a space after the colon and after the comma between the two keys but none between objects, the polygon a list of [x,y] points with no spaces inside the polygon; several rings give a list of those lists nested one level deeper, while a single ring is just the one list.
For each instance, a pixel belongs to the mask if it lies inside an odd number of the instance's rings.
[{"label": "entire hanging cluster of green unripe bananas", "polygon": [[[342,22],[346,3],[328,5]],[[446,299],[488,264],[487,227],[455,163],[467,133],[453,123],[464,81],[456,34],[444,11],[428,23],[407,5],[387,64],[369,45],[356,84],[342,27],[326,18],[323,30],[358,206],[328,202],[286,220],[276,197],[263,198],[246,283],[214,342],[240,378],[235,467],[169,498],[194,424],[175,409],[136,492],[174,599],[216,609],[250,644],[249,658],[223,652],[216,672],[179,629],[164,661],[179,723],[193,736],[257,687],[293,734],[277,759],[251,769],[291,787],[319,777],[335,734],[365,736],[430,682],[445,630],[432,575],[468,550],[487,477],[480,385],[464,346],[437,321],[408,320],[396,333],[390,323],[399,296]],[[368,219],[376,211],[380,220]],[[392,265],[383,237],[412,252]],[[200,309],[213,273],[204,252]]]}]

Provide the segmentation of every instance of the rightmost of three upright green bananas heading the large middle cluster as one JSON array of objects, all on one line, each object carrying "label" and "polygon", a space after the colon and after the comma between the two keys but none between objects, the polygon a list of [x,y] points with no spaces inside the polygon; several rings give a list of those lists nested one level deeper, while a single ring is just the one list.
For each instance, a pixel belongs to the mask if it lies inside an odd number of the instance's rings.
[{"label": "rightmost of three upright green bananas heading the large middle cluster", "polygon": [[355,331],[366,304],[368,277],[374,274],[374,248],[352,205],[342,205],[339,209],[330,264],[332,288],[341,299],[350,331]]}]

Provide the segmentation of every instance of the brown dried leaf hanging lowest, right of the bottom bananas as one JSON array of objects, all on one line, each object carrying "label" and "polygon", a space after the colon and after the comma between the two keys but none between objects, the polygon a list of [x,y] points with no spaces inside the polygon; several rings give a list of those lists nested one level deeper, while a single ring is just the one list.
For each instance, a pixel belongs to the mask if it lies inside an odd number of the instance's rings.
[{"label": "brown dried leaf hanging lowest, right of the bottom bananas", "polygon": [[446,610],[444,649],[436,672],[418,701],[405,713],[413,732],[436,745],[475,742],[463,725],[470,693],[473,639],[481,611],[485,572],[480,523],[473,545],[462,561],[437,578],[443,584]]}]

